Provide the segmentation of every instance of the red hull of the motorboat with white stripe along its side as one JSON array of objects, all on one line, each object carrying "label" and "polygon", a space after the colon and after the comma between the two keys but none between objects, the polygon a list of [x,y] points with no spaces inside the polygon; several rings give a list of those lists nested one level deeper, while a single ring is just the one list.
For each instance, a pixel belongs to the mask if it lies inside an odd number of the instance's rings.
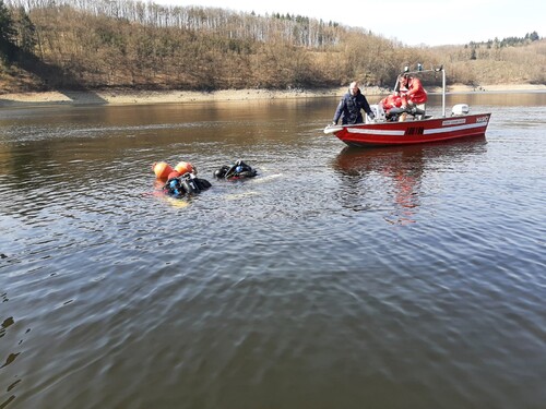
[{"label": "red hull of the motorboat with white stripe along its side", "polygon": [[329,125],[324,133],[334,134],[349,146],[410,145],[483,136],[490,116],[476,113],[403,122]]}]

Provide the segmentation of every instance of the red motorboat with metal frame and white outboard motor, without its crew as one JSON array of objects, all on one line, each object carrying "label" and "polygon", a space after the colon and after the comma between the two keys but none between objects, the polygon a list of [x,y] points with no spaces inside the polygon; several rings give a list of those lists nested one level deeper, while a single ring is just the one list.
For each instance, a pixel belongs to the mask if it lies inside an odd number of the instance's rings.
[{"label": "red motorboat with metal frame and white outboard motor, without its crew", "polygon": [[442,117],[434,118],[423,110],[417,110],[413,113],[406,112],[410,115],[404,121],[389,121],[381,106],[372,105],[370,108],[376,113],[373,120],[366,116],[366,123],[328,125],[324,133],[334,134],[349,146],[410,145],[485,135],[491,115],[470,115],[466,104],[458,104],[453,107],[451,116],[446,116],[446,71],[442,67],[425,71],[406,71],[411,74],[425,72],[442,73]]}]

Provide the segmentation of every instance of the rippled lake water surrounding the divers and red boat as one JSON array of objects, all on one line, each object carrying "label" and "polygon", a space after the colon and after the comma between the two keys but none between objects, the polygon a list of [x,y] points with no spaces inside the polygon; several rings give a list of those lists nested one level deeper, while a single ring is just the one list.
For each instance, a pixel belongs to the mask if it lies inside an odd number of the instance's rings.
[{"label": "rippled lake water surrounding the divers and red boat", "polygon": [[330,97],[2,108],[0,408],[545,408],[546,93],[459,103],[375,149]]}]

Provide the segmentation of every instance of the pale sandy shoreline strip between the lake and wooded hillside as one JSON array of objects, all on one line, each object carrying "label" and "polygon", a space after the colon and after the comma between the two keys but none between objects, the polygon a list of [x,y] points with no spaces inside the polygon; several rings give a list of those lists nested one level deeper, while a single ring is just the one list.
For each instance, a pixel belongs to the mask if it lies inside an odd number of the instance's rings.
[{"label": "pale sandy shoreline strip between the lake and wooded hillside", "polygon": [[[438,93],[441,89],[428,89]],[[467,85],[451,85],[448,93],[474,92],[546,92],[546,85],[510,84],[510,85],[482,85],[472,87]],[[228,101],[228,100],[257,100],[257,99],[293,99],[342,96],[346,87],[328,89],[224,89],[216,92],[190,91],[128,91],[107,89],[96,92],[44,92],[17,93],[0,95],[0,108],[44,106],[44,105],[130,105],[130,104],[168,104],[168,103],[199,103],[199,101]],[[379,87],[365,87],[367,96],[384,95],[390,91]],[[370,99],[370,98],[369,98]],[[371,98],[372,99],[372,98]],[[371,101],[370,101],[371,103]]]}]

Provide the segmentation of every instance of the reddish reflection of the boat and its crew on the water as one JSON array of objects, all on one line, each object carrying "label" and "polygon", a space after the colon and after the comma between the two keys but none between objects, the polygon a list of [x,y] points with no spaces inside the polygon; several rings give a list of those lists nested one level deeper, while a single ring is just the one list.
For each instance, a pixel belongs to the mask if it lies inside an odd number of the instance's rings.
[{"label": "reddish reflection of the boat and its crew on the water", "polygon": [[341,176],[341,201],[355,212],[381,212],[389,224],[416,222],[424,190],[435,189],[434,184],[424,187],[424,179],[446,172],[451,164],[483,154],[485,148],[485,136],[371,149],[347,146],[333,164]]}]

